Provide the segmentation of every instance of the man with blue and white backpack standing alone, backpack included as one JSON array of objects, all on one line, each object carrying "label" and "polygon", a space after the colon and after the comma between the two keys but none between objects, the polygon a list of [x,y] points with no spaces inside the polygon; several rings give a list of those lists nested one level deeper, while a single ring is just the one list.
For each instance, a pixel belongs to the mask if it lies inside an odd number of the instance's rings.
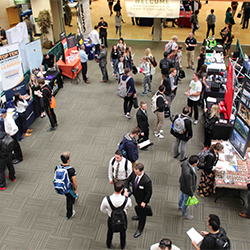
[{"label": "man with blue and white backpack standing alone, backpack included", "polygon": [[73,204],[75,203],[75,198],[78,195],[76,170],[69,165],[70,157],[70,152],[64,152],[61,155],[62,163],[56,166],[53,179],[56,192],[66,196],[67,219],[75,216]]}]

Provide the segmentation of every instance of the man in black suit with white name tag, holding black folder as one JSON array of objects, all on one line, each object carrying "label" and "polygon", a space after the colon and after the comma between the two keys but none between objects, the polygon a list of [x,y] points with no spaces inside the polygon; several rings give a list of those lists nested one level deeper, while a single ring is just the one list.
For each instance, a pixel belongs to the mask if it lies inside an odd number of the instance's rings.
[{"label": "man in black suit with white name tag, holding black folder", "polygon": [[[144,165],[138,163],[135,166],[134,171],[128,177],[125,182],[124,195],[128,196],[129,185],[132,183],[132,194],[135,197],[137,203],[137,216],[133,216],[132,220],[138,220],[138,229],[136,230],[134,237],[137,238],[141,235],[146,224],[146,205],[149,203],[152,196],[152,182],[150,178],[144,173]],[[135,208],[136,209],[136,208]]]}]

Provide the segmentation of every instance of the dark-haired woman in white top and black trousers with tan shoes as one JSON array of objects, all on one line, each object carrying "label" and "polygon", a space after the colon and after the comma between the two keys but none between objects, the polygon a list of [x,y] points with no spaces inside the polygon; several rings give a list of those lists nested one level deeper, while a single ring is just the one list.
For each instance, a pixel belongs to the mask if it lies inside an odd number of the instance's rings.
[{"label": "dark-haired woman in white top and black trousers with tan shoes", "polygon": [[26,124],[26,107],[28,106],[27,101],[25,100],[24,96],[21,96],[19,92],[16,92],[14,94],[14,105],[16,108],[16,111],[18,113],[18,116],[20,118],[20,134],[21,134],[21,139],[22,135],[25,137],[31,136],[31,132],[33,131],[32,129],[27,129],[27,124]]}]

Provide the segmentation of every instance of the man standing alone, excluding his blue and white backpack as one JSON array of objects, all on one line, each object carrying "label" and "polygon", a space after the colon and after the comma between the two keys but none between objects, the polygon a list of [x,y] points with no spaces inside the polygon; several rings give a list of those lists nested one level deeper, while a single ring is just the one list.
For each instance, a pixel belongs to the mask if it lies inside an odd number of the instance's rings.
[{"label": "man standing alone, excluding his blue and white backpack", "polygon": [[[62,163],[59,166],[55,167],[55,172],[59,168],[67,169],[69,180],[71,182],[71,189],[68,193],[65,194],[66,196],[66,217],[67,219],[70,219],[75,216],[75,210],[73,210],[73,205],[75,204],[75,197],[78,194],[77,190],[77,181],[76,181],[76,170],[69,165],[71,160],[71,154],[70,152],[64,152],[61,155],[61,161]],[[55,177],[55,175],[54,175]]]}]

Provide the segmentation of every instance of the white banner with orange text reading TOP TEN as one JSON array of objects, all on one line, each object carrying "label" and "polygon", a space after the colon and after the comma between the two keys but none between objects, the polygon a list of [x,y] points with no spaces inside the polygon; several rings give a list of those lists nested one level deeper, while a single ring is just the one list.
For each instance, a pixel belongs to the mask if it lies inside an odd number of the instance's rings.
[{"label": "white banner with orange text reading TOP TEN", "polygon": [[18,43],[0,48],[0,74],[4,91],[23,81],[23,70]]}]

